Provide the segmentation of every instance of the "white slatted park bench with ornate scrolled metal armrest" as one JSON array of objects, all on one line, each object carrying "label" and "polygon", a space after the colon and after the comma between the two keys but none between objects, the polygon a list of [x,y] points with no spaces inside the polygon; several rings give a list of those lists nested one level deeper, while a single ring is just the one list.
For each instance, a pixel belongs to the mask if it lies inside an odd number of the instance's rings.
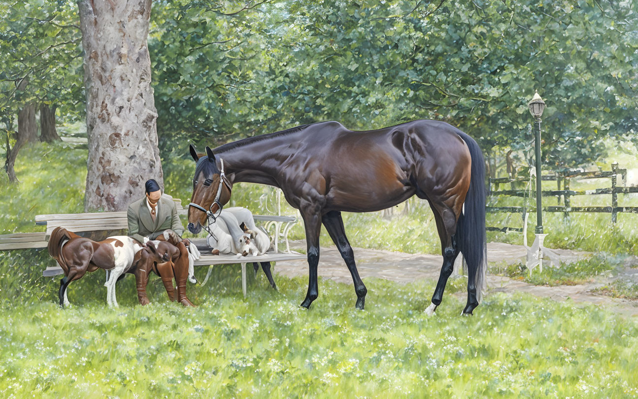
[{"label": "white slatted park bench with ornate scrolled metal armrest", "polygon": [[[188,209],[184,209],[179,199],[173,199],[177,205],[177,212],[186,215]],[[294,216],[269,216],[253,215],[255,223],[269,236],[274,235],[274,250],[260,256],[247,256],[238,258],[237,255],[202,255],[195,261],[195,266],[212,266],[219,264],[241,264],[242,290],[246,296],[246,264],[252,262],[283,262],[286,260],[306,259],[302,253],[292,252],[288,243],[288,232],[297,223]],[[48,238],[56,227],[63,227],[72,232],[92,232],[103,230],[126,230],[128,220],[126,212],[98,212],[98,213],[61,213],[51,215],[37,215],[36,224],[46,225],[45,232],[15,233],[0,236],[0,250],[13,250],[22,248],[46,248]],[[126,233],[124,233],[126,234]],[[279,240],[283,239],[286,250],[279,251]],[[60,266],[49,266],[42,273],[43,276],[52,277],[63,274]],[[209,269],[210,275],[210,269]],[[208,278],[208,276],[207,276]],[[207,280],[206,278],[206,280]]]}]

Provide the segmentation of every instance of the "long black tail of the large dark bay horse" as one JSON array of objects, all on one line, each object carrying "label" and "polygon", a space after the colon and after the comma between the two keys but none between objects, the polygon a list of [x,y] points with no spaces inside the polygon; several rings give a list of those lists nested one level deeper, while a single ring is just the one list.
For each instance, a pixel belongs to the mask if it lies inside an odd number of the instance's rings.
[{"label": "long black tail of the large dark bay horse", "polygon": [[485,232],[485,163],[479,144],[465,133],[457,132],[470,149],[472,160],[470,189],[465,197],[463,213],[456,225],[456,242],[468,267],[468,276],[474,276],[477,299],[486,289],[487,246]]}]

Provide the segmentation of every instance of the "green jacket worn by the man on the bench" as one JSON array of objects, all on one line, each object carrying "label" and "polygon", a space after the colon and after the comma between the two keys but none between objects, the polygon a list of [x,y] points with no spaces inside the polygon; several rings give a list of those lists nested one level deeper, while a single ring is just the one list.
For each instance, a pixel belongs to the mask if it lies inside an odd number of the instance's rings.
[{"label": "green jacket worn by the man on the bench", "polygon": [[177,215],[177,206],[175,202],[166,195],[162,195],[158,201],[158,207],[155,211],[155,222],[151,217],[149,207],[146,205],[146,197],[133,202],[128,206],[128,236],[137,239],[140,243],[144,243],[144,237],[155,239],[164,230],[171,229],[178,236],[184,233],[184,227]]}]

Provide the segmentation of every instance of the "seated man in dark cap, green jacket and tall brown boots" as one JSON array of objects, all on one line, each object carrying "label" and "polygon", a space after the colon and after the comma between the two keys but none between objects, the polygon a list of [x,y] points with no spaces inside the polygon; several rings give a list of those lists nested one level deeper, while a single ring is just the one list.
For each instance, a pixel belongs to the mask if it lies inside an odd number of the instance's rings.
[{"label": "seated man in dark cap, green jacket and tall brown boots", "polygon": [[173,275],[177,280],[177,301],[184,306],[195,306],[186,296],[186,280],[188,279],[188,240],[182,240],[181,234],[184,232],[182,222],[177,215],[177,207],[172,199],[163,197],[158,182],[151,179],[145,183],[146,195],[128,206],[128,235],[144,243],[144,237],[149,239],[163,240],[165,230],[172,230],[177,237],[173,237],[174,244],[181,256],[174,270],[171,270],[170,262],[158,264],[158,271],[161,280],[166,287],[168,296],[174,300]]}]

